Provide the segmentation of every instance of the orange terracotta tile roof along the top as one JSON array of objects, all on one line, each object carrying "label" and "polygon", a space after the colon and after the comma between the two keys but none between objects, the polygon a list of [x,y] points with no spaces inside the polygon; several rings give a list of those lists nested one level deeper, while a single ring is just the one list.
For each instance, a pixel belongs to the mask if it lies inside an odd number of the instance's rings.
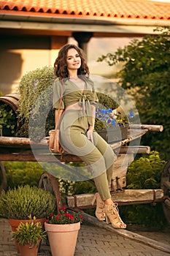
[{"label": "orange terracotta tile roof along the top", "polygon": [[147,0],[0,0],[3,10],[80,17],[170,19],[170,4]]}]

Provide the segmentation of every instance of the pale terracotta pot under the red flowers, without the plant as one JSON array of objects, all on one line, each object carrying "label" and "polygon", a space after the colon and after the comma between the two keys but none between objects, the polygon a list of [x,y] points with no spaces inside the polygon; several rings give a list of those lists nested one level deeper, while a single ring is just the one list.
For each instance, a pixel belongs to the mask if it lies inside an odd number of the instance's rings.
[{"label": "pale terracotta pot under the red flowers, without the plant", "polygon": [[65,225],[45,222],[45,230],[53,256],[74,256],[80,222]]}]

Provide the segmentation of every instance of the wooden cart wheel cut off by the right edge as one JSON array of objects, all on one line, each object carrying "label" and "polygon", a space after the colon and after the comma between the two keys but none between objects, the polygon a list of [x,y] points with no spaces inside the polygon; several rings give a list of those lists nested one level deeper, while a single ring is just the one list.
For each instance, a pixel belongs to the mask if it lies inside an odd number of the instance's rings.
[{"label": "wooden cart wheel cut off by the right edge", "polygon": [[167,162],[163,168],[161,189],[163,189],[164,194],[163,211],[168,223],[170,224],[170,161]]}]

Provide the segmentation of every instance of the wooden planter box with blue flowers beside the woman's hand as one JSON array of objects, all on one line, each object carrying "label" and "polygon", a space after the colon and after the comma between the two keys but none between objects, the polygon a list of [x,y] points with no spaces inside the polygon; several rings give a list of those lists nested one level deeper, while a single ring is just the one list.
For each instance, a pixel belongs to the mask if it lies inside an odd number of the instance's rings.
[{"label": "wooden planter box with blue flowers beside the woman's hand", "polygon": [[116,109],[97,108],[95,129],[107,143],[124,140],[128,137],[128,127],[133,117],[132,112],[125,116]]}]

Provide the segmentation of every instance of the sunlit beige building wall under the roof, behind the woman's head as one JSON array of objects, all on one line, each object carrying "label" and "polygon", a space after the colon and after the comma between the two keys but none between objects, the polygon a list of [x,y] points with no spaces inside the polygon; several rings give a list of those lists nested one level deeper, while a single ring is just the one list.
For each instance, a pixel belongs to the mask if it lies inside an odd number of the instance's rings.
[{"label": "sunlit beige building wall under the roof, behind the woman's head", "polygon": [[[117,48],[133,37],[92,37],[88,42],[88,66],[93,75],[114,77],[118,67],[109,67],[105,62],[97,62],[101,55],[114,53]],[[0,40],[0,91],[5,94],[15,93],[22,76],[38,67],[52,66],[58,50],[66,43],[77,44],[73,37],[46,36],[8,36]]]}]

